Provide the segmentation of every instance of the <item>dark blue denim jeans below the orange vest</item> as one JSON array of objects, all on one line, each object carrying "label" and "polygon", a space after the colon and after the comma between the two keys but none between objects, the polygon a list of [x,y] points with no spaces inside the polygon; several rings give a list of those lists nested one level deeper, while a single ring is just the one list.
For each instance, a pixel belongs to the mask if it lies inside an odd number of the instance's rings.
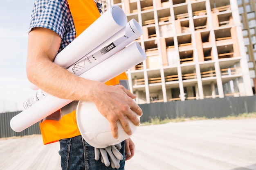
[{"label": "dark blue denim jeans below the orange vest", "polygon": [[[106,167],[101,159],[94,159],[94,147],[90,146],[83,137],[76,136],[61,139],[59,155],[61,155],[62,170],[116,170],[110,166]],[[119,150],[125,157],[125,142],[121,143]],[[124,170],[125,158],[120,161],[119,170]]]}]

